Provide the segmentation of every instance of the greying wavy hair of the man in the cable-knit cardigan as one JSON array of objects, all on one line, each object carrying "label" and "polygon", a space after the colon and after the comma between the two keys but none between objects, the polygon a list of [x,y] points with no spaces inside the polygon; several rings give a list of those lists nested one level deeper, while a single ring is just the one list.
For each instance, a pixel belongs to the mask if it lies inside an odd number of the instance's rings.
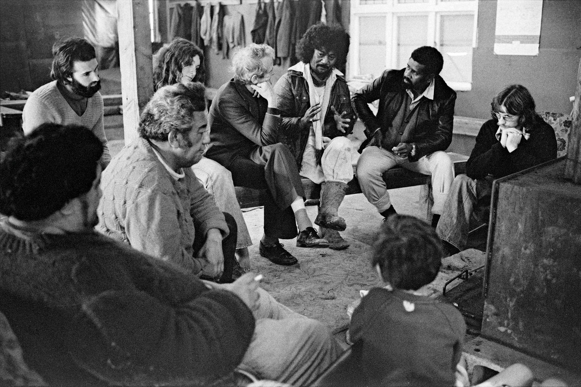
[{"label": "greying wavy hair of the man in the cable-knit cardigan", "polygon": [[206,88],[199,82],[163,86],[146,104],[139,117],[139,136],[144,139],[167,141],[175,130],[192,130],[193,112],[206,110]]}]

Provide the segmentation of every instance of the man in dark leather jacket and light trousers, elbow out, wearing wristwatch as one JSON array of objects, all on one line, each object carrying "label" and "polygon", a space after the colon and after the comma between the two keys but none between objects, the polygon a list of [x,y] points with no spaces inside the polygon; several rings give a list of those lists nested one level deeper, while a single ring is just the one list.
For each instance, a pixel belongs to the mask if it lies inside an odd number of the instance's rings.
[{"label": "man in dark leather jacket and light trousers, elbow out, wearing wristwatch", "polygon": [[[456,92],[438,75],[443,62],[437,49],[417,48],[406,68],[384,71],[353,96],[368,138],[357,162],[357,179],[367,200],[386,218],[396,211],[382,175],[396,165],[432,175],[433,226],[442,214],[454,180],[454,165],[444,150],[452,140],[456,103]],[[377,99],[374,115],[368,103]]]}]

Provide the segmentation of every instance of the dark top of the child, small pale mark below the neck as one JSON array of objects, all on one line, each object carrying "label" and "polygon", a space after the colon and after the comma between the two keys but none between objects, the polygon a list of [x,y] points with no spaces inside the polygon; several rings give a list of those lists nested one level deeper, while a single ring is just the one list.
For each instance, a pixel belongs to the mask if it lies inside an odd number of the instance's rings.
[{"label": "dark top of the child, small pale mark below the neck", "polygon": [[453,306],[373,288],[353,312],[353,356],[371,386],[453,386],[466,325]]}]

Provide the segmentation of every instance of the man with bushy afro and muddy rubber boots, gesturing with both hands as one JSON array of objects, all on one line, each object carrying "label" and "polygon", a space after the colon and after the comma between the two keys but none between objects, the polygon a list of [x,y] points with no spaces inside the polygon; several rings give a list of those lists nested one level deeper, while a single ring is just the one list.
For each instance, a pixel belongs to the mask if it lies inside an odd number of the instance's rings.
[{"label": "man with bushy afro and muddy rubber boots, gesturing with both hands", "polygon": [[315,224],[329,247],[349,247],[339,231],[346,228],[337,210],[353,179],[357,148],[346,138],[356,120],[349,88],[336,67],[345,64],[349,34],[338,25],[315,24],[297,44],[301,62],[275,85],[281,132],[300,175],[321,184],[321,207]]}]

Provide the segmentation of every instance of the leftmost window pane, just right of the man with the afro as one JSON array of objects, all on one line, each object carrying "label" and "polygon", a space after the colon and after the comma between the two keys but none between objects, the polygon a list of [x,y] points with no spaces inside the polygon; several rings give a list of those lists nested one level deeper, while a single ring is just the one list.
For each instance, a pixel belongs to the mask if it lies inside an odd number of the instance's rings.
[{"label": "leftmost window pane, just right of the man with the afro", "polygon": [[379,77],[385,69],[385,16],[359,18],[360,74]]}]

